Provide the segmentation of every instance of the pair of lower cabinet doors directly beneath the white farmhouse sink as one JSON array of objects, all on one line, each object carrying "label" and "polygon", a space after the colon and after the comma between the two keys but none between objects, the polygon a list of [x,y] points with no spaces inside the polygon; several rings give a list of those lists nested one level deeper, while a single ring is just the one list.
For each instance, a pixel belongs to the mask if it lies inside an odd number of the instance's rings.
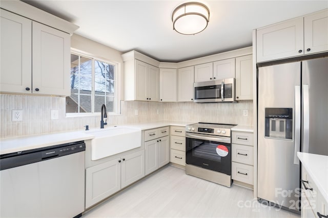
[{"label": "pair of lower cabinet doors directly beneath the white farmhouse sink", "polygon": [[86,208],[145,176],[145,150],[86,169]]}]

